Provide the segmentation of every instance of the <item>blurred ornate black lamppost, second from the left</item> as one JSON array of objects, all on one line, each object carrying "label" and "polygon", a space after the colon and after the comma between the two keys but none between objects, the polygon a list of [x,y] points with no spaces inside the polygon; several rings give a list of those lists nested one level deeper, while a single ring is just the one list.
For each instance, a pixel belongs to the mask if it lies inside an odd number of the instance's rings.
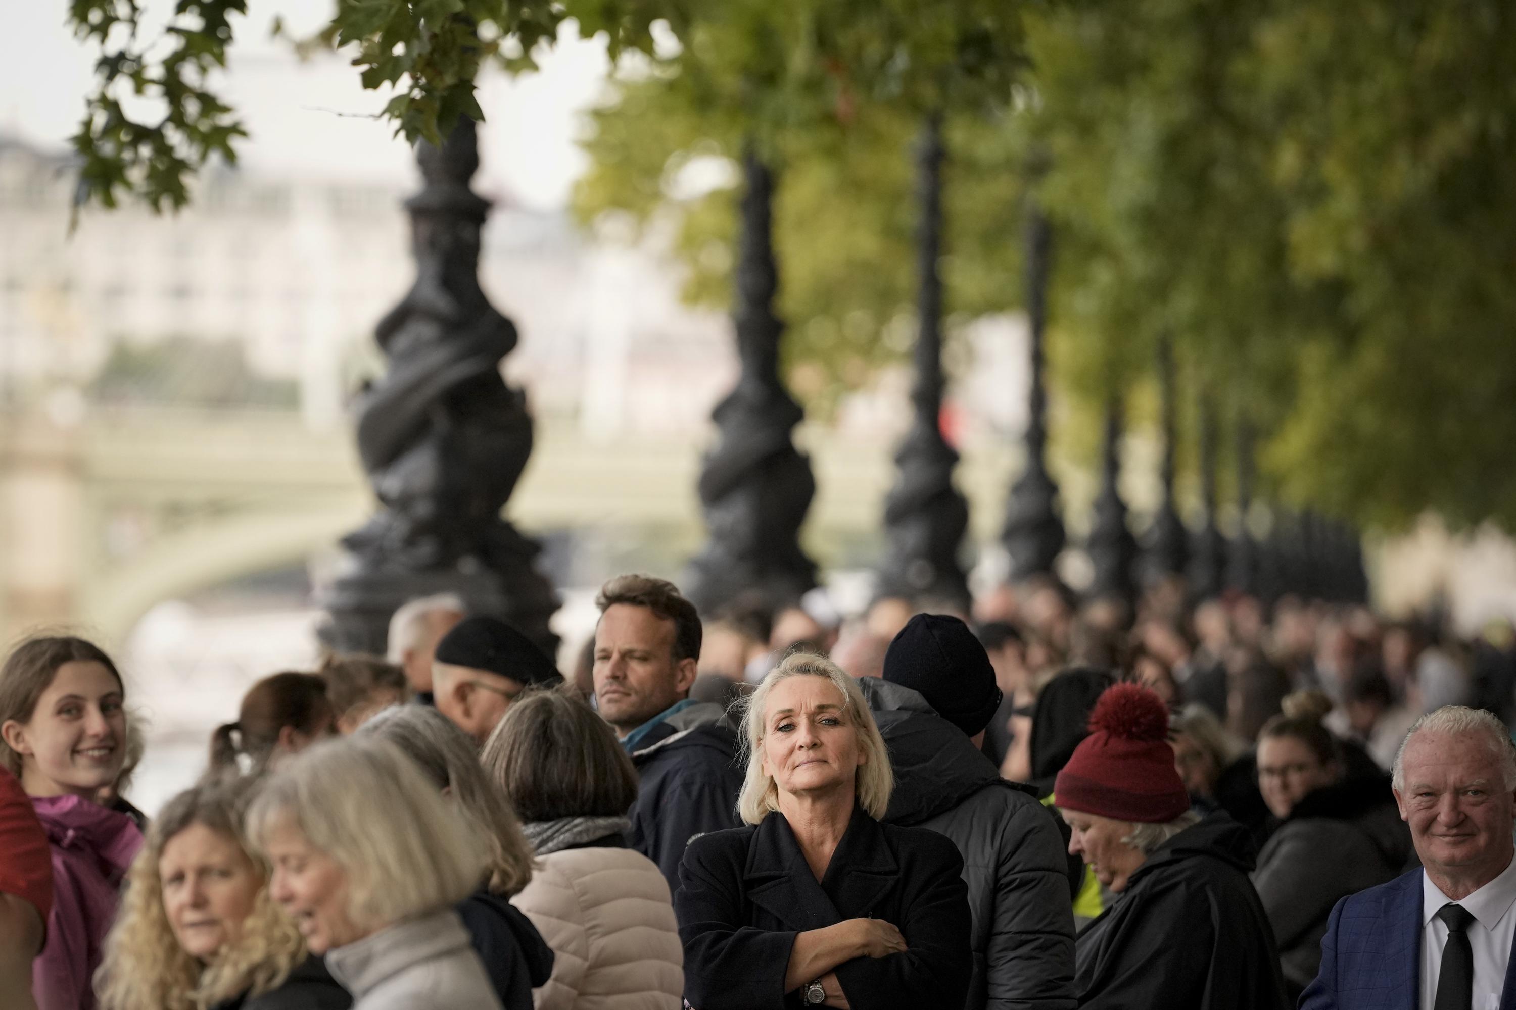
[{"label": "blurred ornate black lamppost, second from the left", "polygon": [[784,323],[773,300],[773,174],[752,147],[743,154],[747,191],[734,277],[737,388],[717,404],[716,447],[700,472],[700,504],[709,541],[690,562],[690,600],[714,613],[743,597],[767,607],[799,600],[816,586],[816,563],[799,531],[816,494],[805,456],[790,432],[803,412],[779,380]]}]

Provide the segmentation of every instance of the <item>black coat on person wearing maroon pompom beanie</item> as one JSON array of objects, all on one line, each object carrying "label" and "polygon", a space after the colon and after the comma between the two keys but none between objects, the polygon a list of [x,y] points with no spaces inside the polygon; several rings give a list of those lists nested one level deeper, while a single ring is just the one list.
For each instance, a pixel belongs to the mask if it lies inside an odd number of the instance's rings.
[{"label": "black coat on person wearing maroon pompom beanie", "polygon": [[1079,933],[1081,1010],[1283,1010],[1252,857],[1248,830],[1225,813],[1154,849]]}]

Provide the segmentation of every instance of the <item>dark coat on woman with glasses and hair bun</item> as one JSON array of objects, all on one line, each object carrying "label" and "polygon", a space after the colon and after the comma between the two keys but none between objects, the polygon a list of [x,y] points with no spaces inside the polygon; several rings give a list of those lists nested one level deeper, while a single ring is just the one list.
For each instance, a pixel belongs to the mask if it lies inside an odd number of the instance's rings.
[{"label": "dark coat on woman with glasses and hair bun", "polygon": [[1258,889],[1280,943],[1284,978],[1298,995],[1316,978],[1333,906],[1399,877],[1416,865],[1389,777],[1317,789],[1269,837],[1258,854]]}]

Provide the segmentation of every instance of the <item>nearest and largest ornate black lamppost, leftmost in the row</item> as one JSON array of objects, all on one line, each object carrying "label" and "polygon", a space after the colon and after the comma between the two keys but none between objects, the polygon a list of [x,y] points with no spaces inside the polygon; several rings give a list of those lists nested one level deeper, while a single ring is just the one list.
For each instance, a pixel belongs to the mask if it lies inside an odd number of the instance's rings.
[{"label": "nearest and largest ornate black lamppost, leftmost in the row", "polygon": [[441,148],[417,147],[424,185],[406,201],[417,277],[376,336],[388,371],[358,397],[358,453],[379,498],[343,541],[343,571],[321,594],[323,631],[341,651],[384,653],[390,615],[450,591],[555,654],[552,584],[538,545],[500,516],[532,451],[526,395],[500,377],[515,327],[479,288],[479,229],[490,203],[473,120]]}]

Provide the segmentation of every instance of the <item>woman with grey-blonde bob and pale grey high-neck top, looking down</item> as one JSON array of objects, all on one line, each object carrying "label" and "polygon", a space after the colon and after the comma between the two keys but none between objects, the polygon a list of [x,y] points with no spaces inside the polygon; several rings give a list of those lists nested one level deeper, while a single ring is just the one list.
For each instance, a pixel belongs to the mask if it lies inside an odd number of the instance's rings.
[{"label": "woman with grey-blonde bob and pale grey high-neck top, looking down", "polygon": [[502,1010],[453,910],[487,854],[399,748],[318,743],[264,784],[247,821],[268,893],[355,1010]]}]

